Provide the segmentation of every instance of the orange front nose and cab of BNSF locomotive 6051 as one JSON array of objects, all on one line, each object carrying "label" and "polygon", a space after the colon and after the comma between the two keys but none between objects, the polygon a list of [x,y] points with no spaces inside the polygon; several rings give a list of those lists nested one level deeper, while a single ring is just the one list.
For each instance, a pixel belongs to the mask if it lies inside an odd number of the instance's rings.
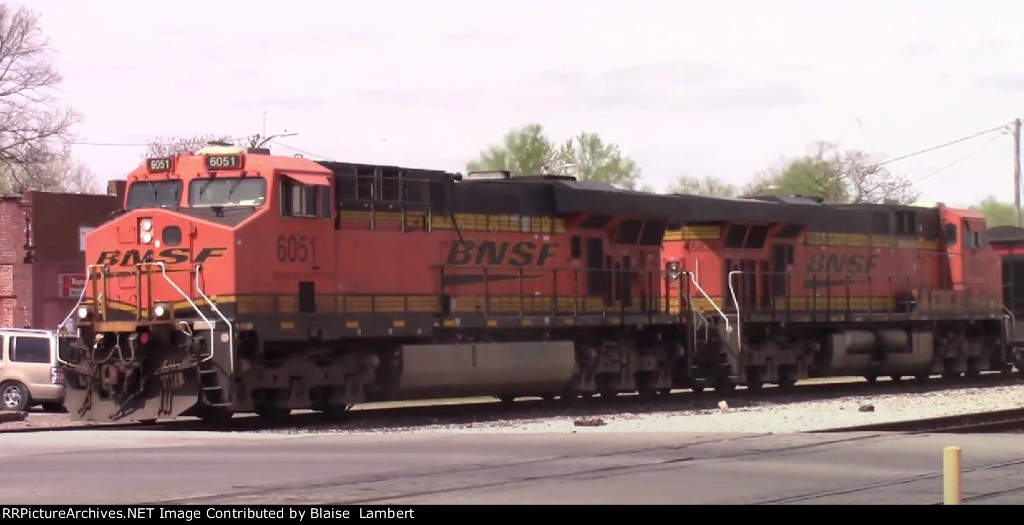
[{"label": "orange front nose and cab of BNSF locomotive 6051", "polygon": [[330,220],[261,234],[279,209],[329,217],[330,172],[267,154],[210,146],[148,159],[129,175],[124,208],[86,236],[88,282],[69,314],[86,347],[66,363],[72,417],[153,420],[229,405],[222,385],[252,329],[236,322],[239,291],[253,285],[239,282],[240,266],[274,254],[314,269],[332,262],[330,238],[316,236]]}]

